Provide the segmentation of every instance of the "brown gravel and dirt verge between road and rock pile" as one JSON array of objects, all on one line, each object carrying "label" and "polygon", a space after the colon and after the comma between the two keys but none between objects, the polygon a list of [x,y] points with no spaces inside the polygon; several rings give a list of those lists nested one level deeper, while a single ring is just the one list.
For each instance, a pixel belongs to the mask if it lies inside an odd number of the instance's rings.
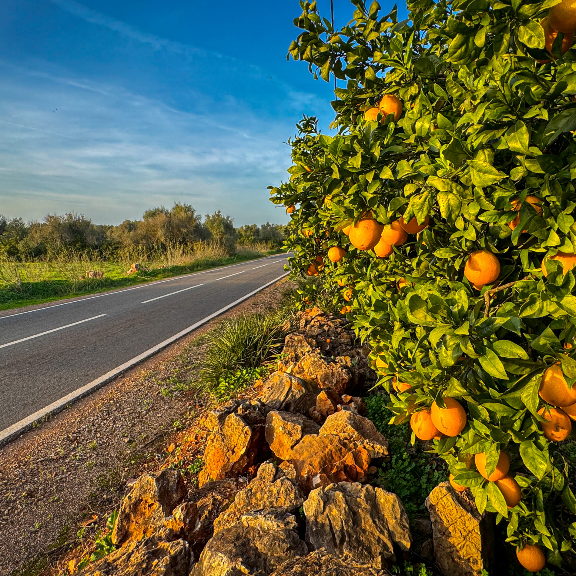
[{"label": "brown gravel and dirt verge between road and rock pile", "polygon": [[[0,449],[0,575],[54,573],[70,550],[88,550],[131,481],[174,460],[173,439],[213,405],[194,384],[202,335],[277,309],[292,287],[268,287]],[[194,469],[194,449],[178,457]]]}]

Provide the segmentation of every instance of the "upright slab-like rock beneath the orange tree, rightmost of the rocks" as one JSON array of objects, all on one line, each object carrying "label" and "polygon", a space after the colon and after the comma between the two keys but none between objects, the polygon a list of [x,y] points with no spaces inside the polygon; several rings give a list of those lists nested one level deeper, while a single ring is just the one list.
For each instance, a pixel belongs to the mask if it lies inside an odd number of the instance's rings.
[{"label": "upright slab-like rock beneath the orange tree, rightmost of the rocks", "polygon": [[466,492],[442,482],[426,498],[436,564],[445,576],[480,576],[492,569],[494,532],[490,513],[478,513]]}]

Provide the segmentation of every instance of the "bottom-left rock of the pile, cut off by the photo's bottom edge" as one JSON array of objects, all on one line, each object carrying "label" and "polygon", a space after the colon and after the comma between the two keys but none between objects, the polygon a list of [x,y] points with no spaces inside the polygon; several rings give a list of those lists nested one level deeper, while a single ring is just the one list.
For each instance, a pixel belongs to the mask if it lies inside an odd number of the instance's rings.
[{"label": "bottom-left rock of the pile, cut off by the photo's bottom edge", "polygon": [[82,576],[188,576],[193,555],[184,540],[166,542],[157,535],[132,541],[89,564]]}]

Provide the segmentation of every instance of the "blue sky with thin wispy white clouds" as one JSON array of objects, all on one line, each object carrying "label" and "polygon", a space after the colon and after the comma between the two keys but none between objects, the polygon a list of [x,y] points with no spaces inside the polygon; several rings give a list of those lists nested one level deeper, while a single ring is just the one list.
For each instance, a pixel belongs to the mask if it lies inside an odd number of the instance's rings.
[{"label": "blue sky with thin wispy white clouds", "polygon": [[0,7],[0,214],[116,224],[178,201],[287,221],[266,190],[287,177],[283,142],[303,112],[332,119],[331,86],[286,62],[297,0]]}]

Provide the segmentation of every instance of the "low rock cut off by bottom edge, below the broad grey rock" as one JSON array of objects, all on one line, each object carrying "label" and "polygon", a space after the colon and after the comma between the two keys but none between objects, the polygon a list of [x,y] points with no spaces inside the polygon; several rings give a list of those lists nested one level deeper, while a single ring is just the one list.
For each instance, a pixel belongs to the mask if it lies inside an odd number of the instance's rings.
[{"label": "low rock cut off by bottom edge, below the broad grey rock", "polygon": [[384,576],[384,571],[350,558],[329,554],[324,548],[278,566],[270,576]]}]

